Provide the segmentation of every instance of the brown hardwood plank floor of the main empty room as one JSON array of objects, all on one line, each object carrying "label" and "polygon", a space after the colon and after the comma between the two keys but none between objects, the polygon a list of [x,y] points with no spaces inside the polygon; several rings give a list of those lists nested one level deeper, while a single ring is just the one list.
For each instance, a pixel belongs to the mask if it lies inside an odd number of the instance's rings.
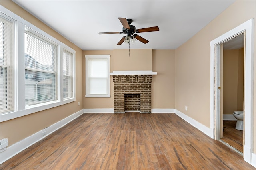
[{"label": "brown hardwood plank floor of the main empty room", "polygon": [[2,170],[254,169],[174,113],[85,113]]}]

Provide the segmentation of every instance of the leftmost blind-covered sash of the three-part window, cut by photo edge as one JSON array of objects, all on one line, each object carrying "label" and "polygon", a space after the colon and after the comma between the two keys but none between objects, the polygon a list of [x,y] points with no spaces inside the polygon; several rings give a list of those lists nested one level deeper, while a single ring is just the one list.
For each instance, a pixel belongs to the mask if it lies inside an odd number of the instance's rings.
[{"label": "leftmost blind-covered sash of the three-part window, cut by photo edge", "polygon": [[1,14],[0,20],[0,113],[14,111],[13,50],[14,21]]}]

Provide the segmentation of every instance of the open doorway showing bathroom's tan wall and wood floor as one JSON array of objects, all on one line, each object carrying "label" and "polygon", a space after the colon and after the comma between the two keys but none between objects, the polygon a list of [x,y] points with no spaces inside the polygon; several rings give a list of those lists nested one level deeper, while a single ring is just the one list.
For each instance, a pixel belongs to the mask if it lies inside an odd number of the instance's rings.
[{"label": "open doorway showing bathroom's tan wall and wood floor", "polygon": [[243,154],[243,129],[236,129],[233,113],[244,111],[244,32],[220,44],[220,51],[220,140]]}]

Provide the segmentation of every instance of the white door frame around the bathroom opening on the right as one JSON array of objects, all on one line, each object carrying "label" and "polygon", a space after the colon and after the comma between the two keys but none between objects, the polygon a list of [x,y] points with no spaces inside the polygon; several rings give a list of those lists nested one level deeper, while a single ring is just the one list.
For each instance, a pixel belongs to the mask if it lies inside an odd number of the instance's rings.
[{"label": "white door frame around the bathroom opening on the right", "polygon": [[220,138],[220,44],[244,32],[244,160],[252,163],[254,19],[250,19],[210,42],[210,137]]}]

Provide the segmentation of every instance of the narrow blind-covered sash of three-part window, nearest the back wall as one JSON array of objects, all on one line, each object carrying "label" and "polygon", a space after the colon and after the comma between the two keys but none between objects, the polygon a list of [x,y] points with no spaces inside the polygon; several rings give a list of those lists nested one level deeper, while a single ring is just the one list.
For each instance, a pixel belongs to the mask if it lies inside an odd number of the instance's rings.
[{"label": "narrow blind-covered sash of three-part window, nearest the back wall", "polygon": [[74,97],[73,93],[73,54],[63,50],[63,99]]}]

